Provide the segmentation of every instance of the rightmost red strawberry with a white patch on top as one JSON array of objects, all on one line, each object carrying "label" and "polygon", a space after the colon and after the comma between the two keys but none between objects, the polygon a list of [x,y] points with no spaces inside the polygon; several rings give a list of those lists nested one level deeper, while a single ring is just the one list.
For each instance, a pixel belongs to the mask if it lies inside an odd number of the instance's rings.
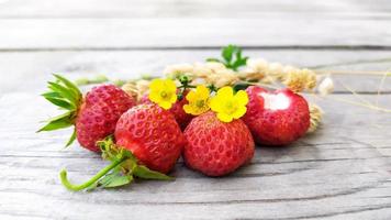
[{"label": "rightmost red strawberry with a white patch on top", "polygon": [[286,145],[303,134],[310,127],[306,100],[289,89],[268,91],[247,88],[249,102],[243,121],[258,144]]}]

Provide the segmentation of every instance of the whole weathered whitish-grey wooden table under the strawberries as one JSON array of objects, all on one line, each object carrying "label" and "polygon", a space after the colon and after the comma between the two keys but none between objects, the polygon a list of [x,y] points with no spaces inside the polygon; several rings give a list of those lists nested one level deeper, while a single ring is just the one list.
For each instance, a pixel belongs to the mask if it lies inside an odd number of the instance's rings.
[{"label": "whole weathered whitish-grey wooden table under the strawberries", "polygon": [[[333,75],[336,91],[311,98],[320,130],[286,147],[256,150],[252,165],[208,178],[179,162],[171,183],[69,193],[103,167],[69,131],[35,133],[56,113],[38,95],[52,73],[132,78],[219,55],[347,73],[391,64],[391,2],[328,0],[40,0],[0,2],[0,219],[391,219],[391,77]],[[350,95],[339,82],[354,88]]]}]

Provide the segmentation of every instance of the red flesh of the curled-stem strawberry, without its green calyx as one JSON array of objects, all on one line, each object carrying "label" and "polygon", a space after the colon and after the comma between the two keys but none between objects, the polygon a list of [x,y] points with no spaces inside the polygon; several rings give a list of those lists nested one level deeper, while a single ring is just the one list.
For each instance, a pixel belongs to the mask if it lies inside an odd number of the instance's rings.
[{"label": "red flesh of the curled-stem strawberry, without its green calyx", "polygon": [[122,114],[115,140],[142,164],[161,173],[174,167],[186,142],[174,116],[156,105],[139,105]]}]

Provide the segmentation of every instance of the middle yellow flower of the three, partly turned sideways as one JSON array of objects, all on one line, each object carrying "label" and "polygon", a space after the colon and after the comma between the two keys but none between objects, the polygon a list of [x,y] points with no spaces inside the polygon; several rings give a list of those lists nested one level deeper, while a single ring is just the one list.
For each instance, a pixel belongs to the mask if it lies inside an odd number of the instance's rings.
[{"label": "middle yellow flower of the three, partly turned sideways", "polygon": [[209,95],[210,90],[205,86],[197,86],[196,91],[191,90],[186,96],[189,103],[183,106],[185,112],[193,116],[200,116],[206,112],[210,109]]}]

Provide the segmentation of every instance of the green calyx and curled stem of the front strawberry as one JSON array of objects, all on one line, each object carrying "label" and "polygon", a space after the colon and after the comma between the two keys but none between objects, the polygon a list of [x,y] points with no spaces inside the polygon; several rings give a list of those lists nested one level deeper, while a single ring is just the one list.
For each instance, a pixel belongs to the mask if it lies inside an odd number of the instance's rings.
[{"label": "green calyx and curled stem of the front strawberry", "polygon": [[149,169],[137,163],[137,158],[132,152],[114,144],[113,138],[110,135],[103,141],[99,141],[98,145],[102,151],[102,157],[111,161],[111,164],[98,172],[89,180],[80,185],[69,183],[67,172],[63,169],[59,173],[62,184],[69,190],[87,191],[97,188],[113,188],[131,184],[134,177],[144,179],[171,180],[172,177]]}]

